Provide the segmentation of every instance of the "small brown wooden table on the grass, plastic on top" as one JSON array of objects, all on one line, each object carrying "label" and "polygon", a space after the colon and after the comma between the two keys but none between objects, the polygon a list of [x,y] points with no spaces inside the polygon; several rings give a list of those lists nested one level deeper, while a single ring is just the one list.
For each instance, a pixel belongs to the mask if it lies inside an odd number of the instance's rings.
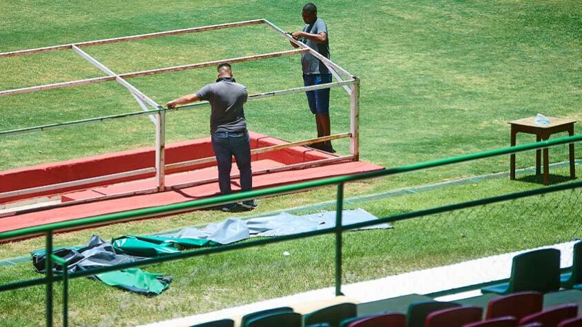
[{"label": "small brown wooden table on the grass, plastic on top", "polygon": [[[559,132],[568,132],[568,135],[574,135],[574,123],[576,121],[563,118],[547,117],[550,123],[539,125],[534,123],[536,117],[518,119],[510,121],[512,126],[512,146],[515,146],[515,139],[518,132],[536,135],[536,142],[550,139],[550,135]],[[570,143],[570,178],[576,178],[574,171],[574,143]],[[540,175],[541,150],[536,150],[536,175]],[[543,185],[547,185],[550,178],[550,163],[547,148],[543,149]],[[515,179],[515,154],[511,155],[510,162],[510,179]]]}]

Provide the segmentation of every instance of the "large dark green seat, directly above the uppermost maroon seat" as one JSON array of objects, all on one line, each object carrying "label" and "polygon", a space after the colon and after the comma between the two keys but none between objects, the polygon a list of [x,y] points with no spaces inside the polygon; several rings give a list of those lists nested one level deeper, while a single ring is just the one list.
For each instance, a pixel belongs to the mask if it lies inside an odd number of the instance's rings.
[{"label": "large dark green seat, directly above the uppermost maroon seat", "polygon": [[482,293],[511,294],[526,290],[541,293],[560,289],[560,251],[545,248],[513,257],[510,282],[481,289]]}]

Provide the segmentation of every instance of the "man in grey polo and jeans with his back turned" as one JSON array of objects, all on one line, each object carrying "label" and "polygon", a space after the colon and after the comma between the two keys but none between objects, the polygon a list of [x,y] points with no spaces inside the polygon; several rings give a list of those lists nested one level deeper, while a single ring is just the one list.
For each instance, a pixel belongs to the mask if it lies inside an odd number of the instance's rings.
[{"label": "man in grey polo and jeans with his back turned", "polygon": [[[212,148],[218,165],[218,185],[222,195],[231,190],[231,168],[233,156],[240,171],[240,188],[243,191],[251,190],[253,179],[251,172],[251,142],[246,131],[246,119],[242,105],[249,96],[246,87],[233,79],[233,72],[229,63],[218,66],[216,83],[208,84],[198,92],[184,95],[166,103],[166,107],[174,108],[195,101],[210,102],[212,112],[210,116],[210,132]],[[242,202],[244,208],[257,207],[257,201]],[[233,210],[236,204],[229,204],[222,211]]]}]

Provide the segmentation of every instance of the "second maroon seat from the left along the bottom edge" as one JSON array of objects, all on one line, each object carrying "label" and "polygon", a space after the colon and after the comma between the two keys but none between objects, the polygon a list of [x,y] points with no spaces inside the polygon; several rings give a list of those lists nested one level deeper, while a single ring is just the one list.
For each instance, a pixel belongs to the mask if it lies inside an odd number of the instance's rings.
[{"label": "second maroon seat from the left along the bottom edge", "polygon": [[478,306],[460,306],[430,313],[425,327],[463,327],[472,322],[481,321],[483,308]]}]

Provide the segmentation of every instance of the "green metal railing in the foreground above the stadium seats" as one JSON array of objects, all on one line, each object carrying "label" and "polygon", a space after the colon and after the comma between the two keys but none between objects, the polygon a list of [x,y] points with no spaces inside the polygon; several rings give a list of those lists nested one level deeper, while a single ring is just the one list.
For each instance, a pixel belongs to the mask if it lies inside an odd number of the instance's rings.
[{"label": "green metal railing in the foreground above the stadium seats", "polygon": [[[501,195],[497,197],[489,197],[486,199],[478,199],[474,201],[467,201],[460,204],[452,204],[447,206],[440,206],[437,208],[430,208],[426,210],[418,210],[414,212],[407,212],[399,215],[392,215],[389,217],[380,218],[374,221],[365,221],[357,224],[343,225],[342,224],[342,208],[343,208],[343,197],[344,197],[344,185],[353,181],[361,181],[364,179],[371,179],[376,177],[385,177],[390,175],[397,175],[404,172],[413,172],[416,170],[423,170],[427,168],[436,168],[439,166],[446,166],[451,164],[458,164],[466,161],[474,161],[478,159],[485,159],[489,157],[496,157],[501,155],[510,155],[516,152],[523,152],[527,150],[539,150],[542,148],[548,148],[551,146],[558,146],[568,143],[576,143],[582,141],[582,135],[574,135],[572,137],[563,137],[559,139],[553,139],[548,141],[541,141],[536,143],[527,143],[520,146],[514,146],[510,148],[501,148],[496,150],[489,150],[484,152],[477,152],[470,155],[462,155],[458,157],[449,157],[447,159],[440,159],[436,161],[427,161],[419,164],[412,164],[408,166],[400,166],[397,168],[389,168],[386,170],[379,170],[376,172],[367,172],[358,175],[349,175],[342,177],[332,177],[328,179],[322,179],[318,181],[308,181],[300,184],[293,184],[287,186],[280,186],[275,188],[268,188],[264,190],[253,190],[249,192],[240,192],[232,195],[222,195],[219,197],[213,197],[209,199],[200,199],[196,201],[188,201],[180,204],[171,204],[166,206],[157,206],[154,208],[144,208],[138,210],[131,210],[126,212],[117,212],[109,215],[101,215],[97,217],[89,217],[83,219],[77,219],[74,221],[63,221],[53,224],[46,224],[43,226],[35,226],[29,228],[21,228],[19,230],[11,230],[8,232],[0,232],[0,241],[9,241],[12,239],[20,239],[23,237],[31,237],[35,235],[45,235],[46,236],[46,253],[52,253],[52,235],[57,231],[73,230],[78,228],[86,228],[89,226],[111,224],[119,221],[128,221],[133,219],[144,219],[148,217],[156,217],[159,215],[172,215],[180,212],[191,211],[200,208],[208,208],[211,206],[218,206],[221,204],[231,203],[233,201],[243,201],[246,199],[256,199],[267,196],[284,195],[292,192],[299,192],[303,190],[310,190],[313,188],[322,188],[326,186],[337,186],[337,198],[336,198],[336,226],[332,228],[326,228],[322,230],[315,230],[311,232],[303,232],[295,235],[285,235],[280,237],[272,237],[265,239],[255,239],[253,241],[246,241],[237,244],[228,244],[213,248],[202,248],[200,250],[191,250],[186,252],[175,253],[171,255],[166,255],[164,257],[143,259],[137,262],[128,264],[119,264],[116,266],[108,266],[103,268],[96,268],[92,270],[84,270],[75,273],[64,273],[63,275],[53,275],[52,262],[59,265],[65,265],[64,260],[56,257],[55,255],[46,256],[46,277],[37,279],[27,279],[24,281],[15,281],[10,284],[0,285],[0,292],[7,290],[16,290],[19,288],[25,288],[30,286],[37,286],[41,284],[46,285],[46,325],[52,326],[52,286],[57,281],[63,281],[64,288],[64,306],[63,306],[63,323],[64,326],[67,325],[68,316],[68,280],[75,279],[79,277],[87,277],[90,275],[97,275],[99,273],[106,273],[114,270],[122,270],[126,268],[135,268],[140,266],[149,266],[152,264],[159,264],[165,261],[186,259],[191,257],[198,257],[201,255],[210,255],[213,253],[226,252],[231,250],[251,248],[255,246],[262,246],[266,244],[278,243],[281,241],[289,241],[293,239],[302,239],[305,237],[313,237],[318,235],[335,234],[336,235],[336,260],[335,260],[335,285],[336,285],[336,295],[341,295],[342,286],[342,233],[345,230],[350,230],[353,228],[361,228],[366,226],[374,226],[382,223],[389,223],[394,221],[401,221],[405,219],[411,219],[415,217],[423,217],[427,215],[434,215],[441,212],[449,212],[454,210],[460,210],[464,208],[472,208],[475,206],[483,206],[485,204],[494,204],[501,201],[508,201],[512,199],[521,199],[524,197],[531,197],[534,195],[543,195],[551,192],[558,192],[561,190],[572,190],[575,188],[582,187],[582,181],[573,182],[570,184],[562,184],[558,186],[550,186],[545,188],[537,188],[534,190],[527,190],[524,192],[515,192],[508,195]],[[66,272],[66,267],[63,268]]]}]

